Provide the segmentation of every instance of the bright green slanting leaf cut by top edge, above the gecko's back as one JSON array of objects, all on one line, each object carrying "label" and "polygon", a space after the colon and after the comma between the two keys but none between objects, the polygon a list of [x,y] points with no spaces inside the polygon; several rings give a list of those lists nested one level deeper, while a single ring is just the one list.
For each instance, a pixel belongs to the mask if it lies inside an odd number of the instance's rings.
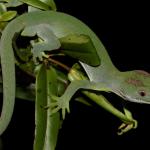
[{"label": "bright green slanting leaf cut by top edge, above the gecko's back", "polygon": [[40,0],[20,0],[20,1],[42,10],[51,10],[50,6],[48,6],[44,2],[41,2]]}]

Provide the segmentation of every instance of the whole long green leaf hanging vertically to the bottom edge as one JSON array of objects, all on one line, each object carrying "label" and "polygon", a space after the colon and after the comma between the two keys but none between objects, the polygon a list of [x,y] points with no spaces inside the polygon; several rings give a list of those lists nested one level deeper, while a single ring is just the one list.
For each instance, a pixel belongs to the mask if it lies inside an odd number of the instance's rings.
[{"label": "whole long green leaf hanging vertically to the bottom edge", "polygon": [[53,68],[47,69],[41,65],[36,78],[36,131],[35,150],[55,150],[57,135],[60,127],[60,116],[56,113],[51,116],[50,95],[57,93],[57,75]]}]

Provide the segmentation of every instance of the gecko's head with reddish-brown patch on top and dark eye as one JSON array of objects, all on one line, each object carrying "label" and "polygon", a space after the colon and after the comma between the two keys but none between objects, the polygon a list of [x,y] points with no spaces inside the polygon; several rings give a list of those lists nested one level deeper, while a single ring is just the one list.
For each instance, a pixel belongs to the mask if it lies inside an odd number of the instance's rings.
[{"label": "gecko's head with reddish-brown patch on top and dark eye", "polygon": [[150,104],[150,74],[134,70],[124,72],[123,77],[116,94],[131,102]]}]

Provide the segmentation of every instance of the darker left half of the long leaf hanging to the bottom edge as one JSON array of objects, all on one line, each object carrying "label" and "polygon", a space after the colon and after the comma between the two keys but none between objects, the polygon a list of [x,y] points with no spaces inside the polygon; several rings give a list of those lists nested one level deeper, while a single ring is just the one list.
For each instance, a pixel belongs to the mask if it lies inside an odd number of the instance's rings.
[{"label": "darker left half of the long leaf hanging to the bottom edge", "polygon": [[35,140],[34,150],[43,150],[46,134],[47,112],[46,93],[46,71],[44,66],[40,66],[36,78],[36,101],[35,101]]}]

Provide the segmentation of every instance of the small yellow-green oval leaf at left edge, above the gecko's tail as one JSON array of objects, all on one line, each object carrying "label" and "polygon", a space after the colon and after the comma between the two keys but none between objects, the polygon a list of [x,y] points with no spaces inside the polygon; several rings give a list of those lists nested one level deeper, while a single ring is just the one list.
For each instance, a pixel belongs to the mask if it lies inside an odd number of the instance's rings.
[{"label": "small yellow-green oval leaf at left edge, above the gecko's tail", "polygon": [[0,21],[10,21],[17,15],[16,11],[7,11],[0,15]]}]

